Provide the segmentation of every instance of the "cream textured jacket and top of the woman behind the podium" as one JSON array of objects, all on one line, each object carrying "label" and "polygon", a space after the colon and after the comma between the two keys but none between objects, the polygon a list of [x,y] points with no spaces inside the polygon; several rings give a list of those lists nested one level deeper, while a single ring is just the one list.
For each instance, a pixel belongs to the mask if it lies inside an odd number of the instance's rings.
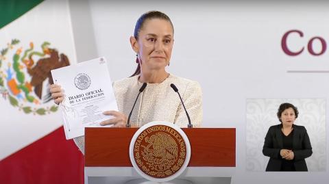
[{"label": "cream textured jacket and top of the woman behind the podium", "polygon": [[[126,116],[130,114],[139,89],[143,85],[138,81],[138,77],[121,79],[113,84],[119,111]],[[187,127],[188,118],[180,97],[170,86],[171,83],[178,88],[193,127],[201,126],[202,91],[199,83],[175,75],[169,75],[162,83],[147,83],[145,90],[138,97],[134,111],[132,111],[130,118],[132,125],[141,127],[147,122],[165,120],[173,122],[179,127]],[[84,153],[84,136],[77,137],[74,141]]]}]

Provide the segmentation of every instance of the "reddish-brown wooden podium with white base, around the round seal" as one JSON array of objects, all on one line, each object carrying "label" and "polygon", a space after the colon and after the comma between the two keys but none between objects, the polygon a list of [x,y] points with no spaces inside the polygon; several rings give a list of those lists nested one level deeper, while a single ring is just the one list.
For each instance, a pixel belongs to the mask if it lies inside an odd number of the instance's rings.
[{"label": "reddish-brown wooden podium with white base, around the round seal", "polygon": [[[235,129],[182,129],[191,159],[179,179],[193,183],[230,183],[235,172]],[[137,128],[86,128],[85,183],[126,183],[142,177],[134,170],[129,146]]]}]

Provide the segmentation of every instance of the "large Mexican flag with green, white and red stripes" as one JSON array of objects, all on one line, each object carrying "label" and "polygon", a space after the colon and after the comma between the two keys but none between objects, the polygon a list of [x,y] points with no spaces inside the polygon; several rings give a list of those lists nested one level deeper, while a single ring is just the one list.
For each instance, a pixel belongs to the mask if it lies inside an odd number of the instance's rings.
[{"label": "large Mexican flag with green, white and red stripes", "polygon": [[76,62],[67,0],[0,1],[0,183],[83,183],[50,70]]}]

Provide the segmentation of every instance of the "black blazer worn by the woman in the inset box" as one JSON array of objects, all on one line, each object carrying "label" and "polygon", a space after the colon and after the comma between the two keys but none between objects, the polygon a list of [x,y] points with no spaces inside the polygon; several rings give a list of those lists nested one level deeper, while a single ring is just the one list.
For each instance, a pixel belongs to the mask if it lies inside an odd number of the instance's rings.
[{"label": "black blazer worn by the woman in the inset box", "polygon": [[[283,149],[281,133],[282,124],[269,127],[263,146],[263,154],[269,158],[266,171],[280,171],[282,159],[280,150]],[[293,163],[296,171],[307,171],[307,157],[312,155],[312,146],[305,127],[293,124]]]}]

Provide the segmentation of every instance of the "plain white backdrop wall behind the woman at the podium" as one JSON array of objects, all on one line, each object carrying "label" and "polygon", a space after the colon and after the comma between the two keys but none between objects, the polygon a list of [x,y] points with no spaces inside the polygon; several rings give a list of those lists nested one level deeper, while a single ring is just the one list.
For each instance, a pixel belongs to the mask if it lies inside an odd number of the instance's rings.
[{"label": "plain white backdrop wall behind the woman at the podium", "polygon": [[[112,80],[131,75],[136,67],[129,37],[137,18],[148,10],[160,10],[171,17],[175,43],[169,72],[201,84],[204,127],[236,128],[236,174],[232,183],[328,181],[328,171],[249,172],[245,131],[247,98],[324,98],[328,101],[329,51],[314,56],[308,53],[307,44],[314,36],[324,38],[329,44],[329,3],[93,0],[88,3],[97,53],[108,59]],[[294,57],[285,54],[281,47],[282,36],[292,29],[302,31],[303,37],[291,34],[287,42],[289,49],[298,51],[305,47],[304,52]],[[313,47],[315,52],[321,51],[319,40],[313,42]],[[77,55],[79,58],[79,53]],[[297,72],[289,73],[291,70]],[[327,166],[328,159],[325,160]]]}]

